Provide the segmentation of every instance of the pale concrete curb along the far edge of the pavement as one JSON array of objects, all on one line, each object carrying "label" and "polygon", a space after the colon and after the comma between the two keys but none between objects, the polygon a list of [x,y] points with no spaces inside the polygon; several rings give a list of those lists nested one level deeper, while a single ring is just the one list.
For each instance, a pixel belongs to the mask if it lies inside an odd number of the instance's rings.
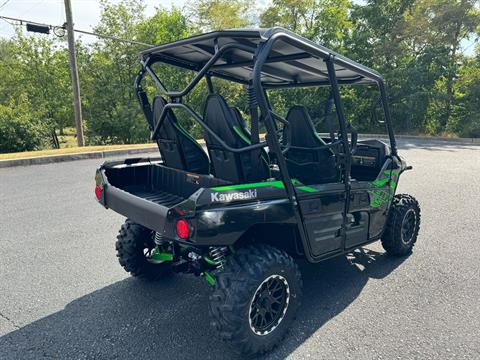
[{"label": "pale concrete curb along the far edge of the pavement", "polygon": [[[321,134],[321,135],[328,137],[328,134]],[[388,135],[361,134],[360,138],[388,139]],[[480,138],[445,138],[445,137],[427,137],[427,136],[413,136],[413,135],[395,135],[395,138],[401,139],[401,140],[425,141],[430,143],[434,142],[434,143],[443,143],[443,144],[455,143],[455,144],[461,144],[461,145],[480,145]],[[199,140],[198,142],[201,145],[204,145],[205,143],[203,140]],[[102,158],[111,157],[111,156],[144,154],[144,153],[150,153],[150,152],[152,153],[158,152],[157,147],[148,146],[144,148],[134,148],[134,149],[92,151],[92,152],[76,153],[76,154],[49,155],[49,156],[43,156],[43,157],[0,160],[0,168],[7,168],[7,167],[13,167],[13,166],[52,164],[57,162],[84,160],[84,159],[102,159]]]}]

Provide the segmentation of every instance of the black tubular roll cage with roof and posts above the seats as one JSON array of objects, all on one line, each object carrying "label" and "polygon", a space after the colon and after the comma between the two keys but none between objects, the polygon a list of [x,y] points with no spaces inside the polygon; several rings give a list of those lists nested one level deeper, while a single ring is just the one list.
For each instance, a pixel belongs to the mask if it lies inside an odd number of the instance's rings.
[{"label": "black tubular roll cage with roof and posts above the seats", "polygon": [[[340,125],[340,137],[337,141],[322,147],[331,148],[343,168],[343,182],[347,195],[345,197],[346,207],[348,207],[351,189],[351,154],[355,150],[356,132],[349,126],[345,118],[339,92],[340,85],[376,84],[378,86],[392,155],[397,155],[387,94],[381,75],[283,28],[226,30],[197,35],[146,49],[141,52],[140,61],[141,69],[135,79],[135,89],[149,123],[151,139],[155,139],[157,136],[168,111],[182,109],[198,122],[226,151],[243,153],[268,146],[269,151],[277,159],[281,180],[292,205],[297,204],[297,194],[283,156],[285,151],[291,148],[288,139],[289,123],[272,110],[267,89],[309,86],[331,87]],[[195,75],[184,89],[168,90],[152,69],[152,65],[155,63],[164,63],[191,70],[195,72]],[[163,95],[168,97],[169,100],[156,124],[153,121],[148,99],[141,85],[146,74],[153,79]],[[227,145],[200,115],[183,103],[183,98],[203,78],[206,79],[209,92],[213,93],[212,77],[246,85],[251,116],[251,145],[242,148],[233,148]],[[258,110],[260,110],[260,113],[258,113]],[[264,123],[266,128],[265,141],[259,140],[260,121]],[[279,121],[287,127],[287,139],[284,143],[279,140],[275,121]],[[351,142],[348,140],[349,131],[351,132]],[[297,223],[301,224],[299,210],[296,209],[296,206],[293,206],[293,208],[295,209]],[[298,229],[303,245],[308,246],[304,228],[299,225]]]}]

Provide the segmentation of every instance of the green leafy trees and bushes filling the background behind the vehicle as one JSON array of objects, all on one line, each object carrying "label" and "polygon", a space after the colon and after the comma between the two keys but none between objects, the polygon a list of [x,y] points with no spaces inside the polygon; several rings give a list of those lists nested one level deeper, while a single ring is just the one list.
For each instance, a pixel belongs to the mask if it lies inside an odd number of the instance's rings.
[{"label": "green leafy trees and bushes filling the background behind the vehicle", "polygon": [[[259,9],[252,0],[195,0],[186,8],[158,7],[145,16],[143,0],[101,0],[96,32],[147,44],[161,44],[217,29],[283,26],[370,66],[384,75],[397,132],[480,136],[480,48],[466,56],[466,41],[478,41],[477,0],[272,0]],[[90,144],[148,141],[133,81],[142,45],[77,39],[85,134]],[[471,46],[471,45],[470,45]],[[0,40],[0,151],[47,146],[52,132],[74,126],[64,39],[24,35]],[[169,90],[183,88],[194,76],[159,65]],[[246,115],[243,86],[214,80],[215,89]],[[144,87],[160,95],[152,81]],[[383,131],[372,114],[378,92],[342,87],[345,113],[359,130]],[[207,95],[200,83],[185,99],[198,113]],[[304,104],[318,129],[328,89],[269,91],[271,103],[286,115]],[[191,118],[179,120],[194,136],[203,130]],[[248,121],[248,117],[246,116]],[[323,123],[322,123],[323,122]]]}]

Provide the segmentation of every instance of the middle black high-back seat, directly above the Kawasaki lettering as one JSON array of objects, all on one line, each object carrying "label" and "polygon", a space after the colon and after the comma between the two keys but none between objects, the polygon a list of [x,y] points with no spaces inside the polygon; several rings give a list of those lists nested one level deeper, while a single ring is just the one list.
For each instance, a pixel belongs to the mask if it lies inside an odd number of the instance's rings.
[{"label": "middle black high-back seat, directly above the Kawasaki lettering", "polygon": [[[248,133],[242,129],[234,110],[218,94],[210,94],[205,103],[204,121],[228,146],[242,148],[250,145]],[[270,177],[268,160],[261,149],[234,153],[224,149],[208,132],[205,142],[212,163],[212,174],[233,183],[248,183]]]}]

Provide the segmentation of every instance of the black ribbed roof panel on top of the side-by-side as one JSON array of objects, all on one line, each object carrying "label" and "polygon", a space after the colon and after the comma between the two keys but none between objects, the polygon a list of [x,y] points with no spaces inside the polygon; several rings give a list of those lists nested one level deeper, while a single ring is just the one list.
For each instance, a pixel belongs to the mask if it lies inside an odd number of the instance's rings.
[{"label": "black ribbed roof panel on top of the side-by-side", "polygon": [[[148,48],[141,52],[143,60],[166,62],[175,66],[200,70],[226,44],[242,44],[257,48],[273,35],[278,39],[262,68],[264,86],[308,86],[328,84],[325,59],[333,56],[339,83],[366,84],[382,81],[380,74],[353,60],[335,53],[286,29],[235,29],[214,31]],[[234,49],[222,55],[208,71],[213,76],[246,83],[253,71],[252,53]]]}]

